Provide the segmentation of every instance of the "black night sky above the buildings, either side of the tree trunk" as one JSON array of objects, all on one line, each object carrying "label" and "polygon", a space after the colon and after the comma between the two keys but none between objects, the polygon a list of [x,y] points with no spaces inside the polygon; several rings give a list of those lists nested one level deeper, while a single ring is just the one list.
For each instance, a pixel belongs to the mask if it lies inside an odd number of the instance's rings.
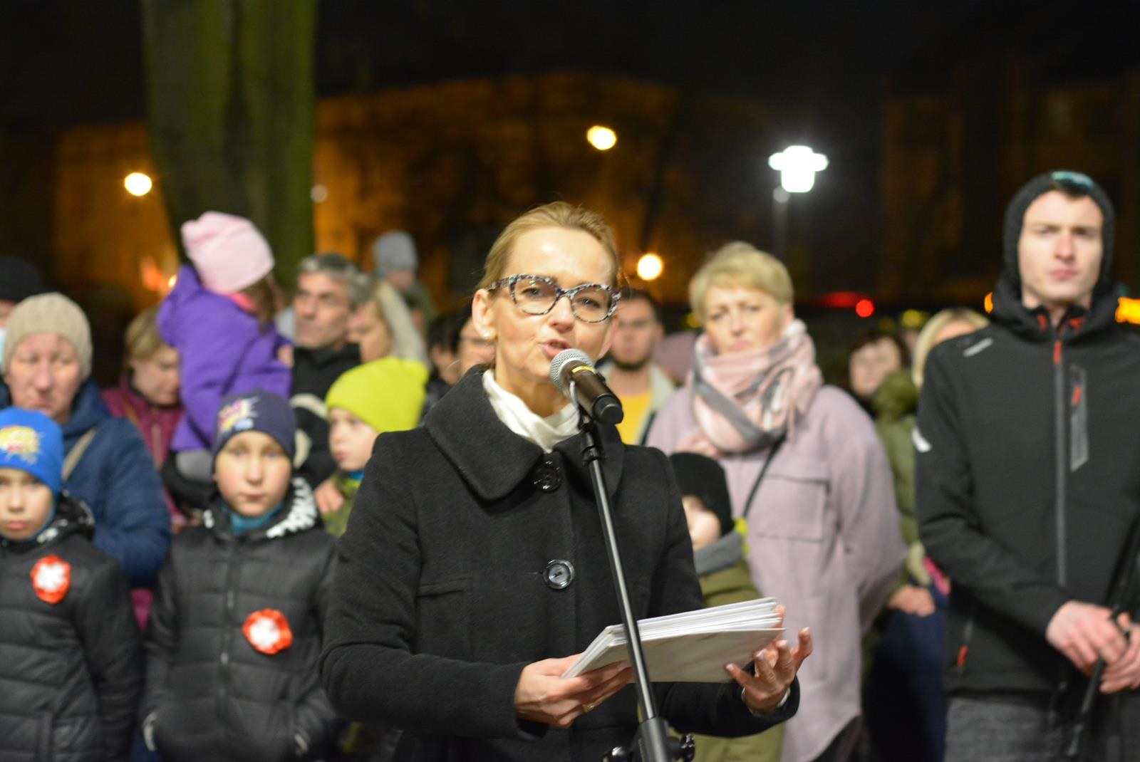
[{"label": "black night sky above the buildings, either side of the tree trunk", "polygon": [[[323,0],[318,87],[589,68],[807,104],[822,120],[874,110],[882,75],[984,3],[894,5]],[[0,126],[142,115],[137,2],[9,0],[2,13]]]}]

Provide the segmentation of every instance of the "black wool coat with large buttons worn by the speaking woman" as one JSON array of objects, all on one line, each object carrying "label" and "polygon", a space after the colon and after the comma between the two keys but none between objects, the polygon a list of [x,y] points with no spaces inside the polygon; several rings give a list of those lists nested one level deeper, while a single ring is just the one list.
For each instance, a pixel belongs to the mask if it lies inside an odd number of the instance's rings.
[{"label": "black wool coat with large buttons worn by the speaking woman", "polygon": [[[703,607],[681,495],[658,450],[601,427],[604,473],[634,613]],[[620,614],[580,435],[544,454],[498,419],[469,374],[422,428],[381,435],[339,546],[321,675],[355,720],[405,729],[399,760],[594,760],[636,729],[633,686],[569,730],[520,721],[532,662],[584,650]],[[549,572],[565,562],[567,574]],[[739,736],[735,683],[659,683],[683,732]]]}]

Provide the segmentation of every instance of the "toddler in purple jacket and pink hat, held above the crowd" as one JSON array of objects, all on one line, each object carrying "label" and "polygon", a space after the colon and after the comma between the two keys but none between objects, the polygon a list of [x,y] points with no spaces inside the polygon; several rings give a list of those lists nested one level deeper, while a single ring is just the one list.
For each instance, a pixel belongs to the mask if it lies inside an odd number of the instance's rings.
[{"label": "toddler in purple jacket and pink hat, held above the crowd", "polygon": [[206,212],[182,226],[194,267],[158,309],[163,341],[178,350],[186,415],[170,443],[186,478],[209,482],[214,416],[223,396],[263,388],[290,396],[291,346],[274,326],[274,256],[252,222]]}]

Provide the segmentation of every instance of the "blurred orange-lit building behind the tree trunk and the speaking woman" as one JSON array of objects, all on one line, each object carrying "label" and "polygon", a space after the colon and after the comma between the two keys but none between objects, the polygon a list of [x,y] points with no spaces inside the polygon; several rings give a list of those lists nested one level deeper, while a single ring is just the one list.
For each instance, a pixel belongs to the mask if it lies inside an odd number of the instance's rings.
[{"label": "blurred orange-lit building behind the tree trunk and the speaking woman", "polygon": [[[613,128],[617,146],[588,145],[593,124]],[[769,179],[760,179],[768,133],[763,109],[747,99],[573,72],[324,98],[316,251],[342,252],[370,270],[373,239],[408,230],[421,277],[439,300],[457,303],[506,222],[565,199],[613,226],[630,278],[642,253],[660,254],[663,275],[638,285],[684,303],[706,252],[728,238],[768,237]],[[157,301],[178,248],[145,125],[70,128],[55,164],[54,280],[73,292],[113,292],[136,309]],[[154,189],[128,194],[130,172],[153,177]]]}]

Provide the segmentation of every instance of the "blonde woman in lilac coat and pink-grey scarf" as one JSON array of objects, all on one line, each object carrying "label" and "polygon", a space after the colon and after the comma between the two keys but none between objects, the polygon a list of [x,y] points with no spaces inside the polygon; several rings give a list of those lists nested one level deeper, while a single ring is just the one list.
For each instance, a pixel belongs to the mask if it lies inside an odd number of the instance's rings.
[{"label": "blonde woman in lilac coat and pink-grey scarf", "polygon": [[866,413],[823,385],[781,262],[728,244],[693,277],[690,300],[705,326],[693,371],[646,443],[720,462],[756,587],[784,604],[789,632],[813,631],[783,762],[847,760],[860,640],[905,555],[890,467]]}]

